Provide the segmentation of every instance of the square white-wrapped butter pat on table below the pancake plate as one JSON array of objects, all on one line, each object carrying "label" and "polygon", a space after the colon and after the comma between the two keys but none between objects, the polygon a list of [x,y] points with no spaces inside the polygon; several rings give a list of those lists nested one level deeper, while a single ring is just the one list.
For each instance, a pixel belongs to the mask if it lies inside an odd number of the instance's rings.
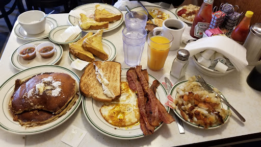
[{"label": "square white-wrapped butter pat on table below the pancake plate", "polygon": [[61,141],[63,141],[64,143],[66,143],[70,146],[77,147],[83,140],[86,133],[87,133],[86,131],[84,131],[80,128],[71,126],[68,129],[68,131],[64,134]]}]

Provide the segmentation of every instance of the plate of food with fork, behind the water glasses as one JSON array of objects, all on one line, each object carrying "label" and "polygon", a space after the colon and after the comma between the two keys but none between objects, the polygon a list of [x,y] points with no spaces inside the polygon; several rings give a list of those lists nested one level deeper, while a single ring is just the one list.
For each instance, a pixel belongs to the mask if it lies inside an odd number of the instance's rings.
[{"label": "plate of food with fork, behind the water glasses", "polygon": [[[156,6],[144,6],[144,7],[148,10],[149,14],[153,17],[153,19],[147,21],[147,25],[145,27],[147,32],[152,31],[155,27],[162,27],[162,23],[165,19],[168,18],[178,19],[178,17],[173,12],[165,8],[156,7]],[[131,9],[131,11],[140,11],[147,14],[147,12],[142,7],[135,7]]]}]

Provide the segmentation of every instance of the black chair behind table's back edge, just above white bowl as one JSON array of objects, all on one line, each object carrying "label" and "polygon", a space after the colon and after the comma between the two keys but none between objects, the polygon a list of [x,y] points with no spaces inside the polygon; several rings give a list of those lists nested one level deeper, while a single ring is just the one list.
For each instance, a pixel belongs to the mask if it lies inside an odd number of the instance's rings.
[{"label": "black chair behind table's back edge, just above white bowl", "polygon": [[[70,7],[69,7],[70,1]],[[25,0],[28,10],[39,10],[45,13],[45,8],[53,8],[58,6],[64,6],[65,13],[69,13],[70,9],[75,7],[77,0]],[[34,9],[33,9],[34,8]]]}]

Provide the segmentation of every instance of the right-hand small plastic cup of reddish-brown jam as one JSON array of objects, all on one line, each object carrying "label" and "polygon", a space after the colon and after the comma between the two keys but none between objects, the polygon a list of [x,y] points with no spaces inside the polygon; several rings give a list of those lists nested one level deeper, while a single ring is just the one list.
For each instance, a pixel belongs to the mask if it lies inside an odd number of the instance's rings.
[{"label": "right-hand small plastic cup of reddish-brown jam", "polygon": [[42,58],[51,58],[55,55],[55,44],[51,42],[44,42],[39,44],[36,50]]}]

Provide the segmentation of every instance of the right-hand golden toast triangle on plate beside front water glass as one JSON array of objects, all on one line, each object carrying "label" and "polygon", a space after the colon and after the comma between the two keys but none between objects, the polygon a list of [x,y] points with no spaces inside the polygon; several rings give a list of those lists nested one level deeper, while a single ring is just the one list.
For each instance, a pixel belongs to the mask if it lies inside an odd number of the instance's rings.
[{"label": "right-hand golden toast triangle on plate beside front water glass", "polygon": [[107,60],[109,55],[103,50],[101,43],[102,32],[103,30],[98,30],[97,33],[87,37],[83,42],[83,47],[85,50],[91,52],[100,59]]}]

